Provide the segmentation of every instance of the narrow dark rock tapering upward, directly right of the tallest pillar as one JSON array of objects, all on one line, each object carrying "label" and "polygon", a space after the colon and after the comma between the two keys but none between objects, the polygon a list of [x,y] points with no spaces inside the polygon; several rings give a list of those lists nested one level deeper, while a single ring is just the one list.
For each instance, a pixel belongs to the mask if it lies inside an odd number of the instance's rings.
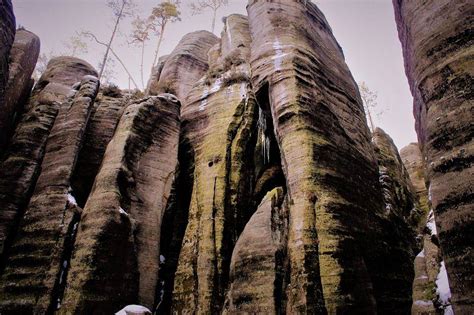
[{"label": "narrow dark rock tapering upward, directly right of the tallest pillar", "polygon": [[391,311],[407,314],[412,304],[413,260],[420,251],[415,230],[424,215],[393,140],[380,128],[372,139],[385,202],[383,239],[392,256],[391,263],[384,266],[392,286],[386,299],[392,304]]}]

